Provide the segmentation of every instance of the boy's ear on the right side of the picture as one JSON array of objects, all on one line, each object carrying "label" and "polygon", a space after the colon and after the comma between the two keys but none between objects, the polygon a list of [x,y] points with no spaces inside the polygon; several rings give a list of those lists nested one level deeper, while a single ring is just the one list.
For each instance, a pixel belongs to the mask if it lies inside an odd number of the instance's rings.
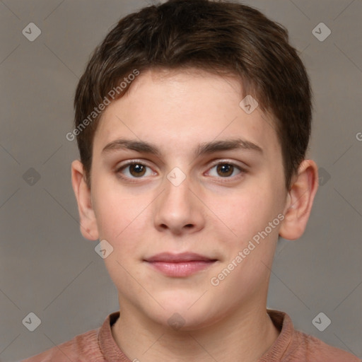
[{"label": "boy's ear on the right side of the picture", "polygon": [[313,160],[303,160],[288,192],[284,220],[279,229],[282,238],[296,240],[303,235],[317,189],[317,165]]}]

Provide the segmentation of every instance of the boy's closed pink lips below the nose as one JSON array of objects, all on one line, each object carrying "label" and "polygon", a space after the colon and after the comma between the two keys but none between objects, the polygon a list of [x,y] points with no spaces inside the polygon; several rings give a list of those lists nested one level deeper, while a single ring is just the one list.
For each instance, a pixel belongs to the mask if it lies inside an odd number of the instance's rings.
[{"label": "boy's closed pink lips below the nose", "polygon": [[163,252],[144,259],[144,262],[156,271],[159,271],[166,276],[179,278],[205,270],[217,261],[217,259],[191,252],[184,252],[182,254]]}]

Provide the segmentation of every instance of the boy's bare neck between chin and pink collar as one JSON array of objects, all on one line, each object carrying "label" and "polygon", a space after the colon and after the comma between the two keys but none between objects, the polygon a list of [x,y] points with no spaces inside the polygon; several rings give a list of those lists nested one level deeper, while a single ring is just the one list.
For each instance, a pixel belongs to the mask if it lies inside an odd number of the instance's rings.
[{"label": "boy's bare neck between chin and pink collar", "polygon": [[122,303],[112,334],[131,361],[256,362],[274,344],[279,330],[265,305],[243,305],[213,325],[183,331],[145,320]]}]

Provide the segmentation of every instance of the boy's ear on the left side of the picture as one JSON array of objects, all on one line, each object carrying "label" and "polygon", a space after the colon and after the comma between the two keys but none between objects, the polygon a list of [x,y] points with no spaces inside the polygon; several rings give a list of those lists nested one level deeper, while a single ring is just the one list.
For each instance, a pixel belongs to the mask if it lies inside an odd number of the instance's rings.
[{"label": "boy's ear on the left side of the picture", "polygon": [[76,194],[78,203],[79,220],[81,233],[88,240],[99,238],[98,227],[91,202],[91,189],[86,184],[86,177],[83,170],[83,163],[74,160],[71,163],[71,185]]}]

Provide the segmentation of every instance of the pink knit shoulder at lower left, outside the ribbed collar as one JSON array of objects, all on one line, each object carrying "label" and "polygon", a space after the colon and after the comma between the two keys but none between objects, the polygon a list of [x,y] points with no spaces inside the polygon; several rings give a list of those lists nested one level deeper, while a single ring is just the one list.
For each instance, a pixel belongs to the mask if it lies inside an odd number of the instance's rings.
[{"label": "pink knit shoulder at lower left, outside the ribbed collar", "polygon": [[86,362],[90,357],[98,356],[102,357],[98,346],[98,329],[92,329],[21,362]]}]

